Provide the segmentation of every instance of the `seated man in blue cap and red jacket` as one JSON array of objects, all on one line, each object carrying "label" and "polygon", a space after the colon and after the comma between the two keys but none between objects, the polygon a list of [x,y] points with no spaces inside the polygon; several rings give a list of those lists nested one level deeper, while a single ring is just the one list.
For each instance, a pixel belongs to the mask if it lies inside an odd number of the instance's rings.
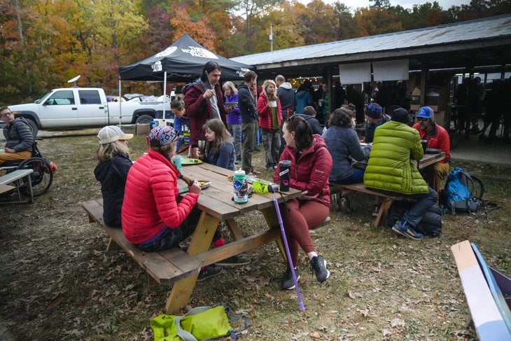
[{"label": "seated man in blue cap and red jacket", "polygon": [[423,172],[426,182],[438,192],[442,180],[450,170],[451,142],[449,133],[444,127],[435,123],[435,112],[429,106],[423,106],[417,111],[417,123],[412,128],[419,132],[421,140],[426,140],[426,148],[439,149],[445,153],[445,158],[435,162]]}]

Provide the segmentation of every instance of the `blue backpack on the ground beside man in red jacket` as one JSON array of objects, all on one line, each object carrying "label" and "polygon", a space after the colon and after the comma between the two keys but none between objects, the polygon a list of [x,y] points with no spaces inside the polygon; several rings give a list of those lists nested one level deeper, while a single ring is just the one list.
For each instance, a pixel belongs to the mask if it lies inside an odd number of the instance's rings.
[{"label": "blue backpack on the ground beside man in red jacket", "polygon": [[442,193],[444,207],[452,214],[477,212],[482,205],[484,185],[477,176],[459,167],[451,169]]}]

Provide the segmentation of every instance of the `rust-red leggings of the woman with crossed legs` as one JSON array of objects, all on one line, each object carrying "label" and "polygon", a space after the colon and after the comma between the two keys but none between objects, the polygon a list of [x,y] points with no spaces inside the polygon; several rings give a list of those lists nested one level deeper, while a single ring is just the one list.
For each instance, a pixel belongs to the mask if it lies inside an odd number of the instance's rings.
[{"label": "rust-red leggings of the woman with crossed legs", "polygon": [[280,211],[291,260],[293,260],[293,265],[297,266],[298,245],[305,253],[316,251],[309,229],[323,223],[330,213],[330,208],[321,202],[292,199],[286,204],[281,204]]}]

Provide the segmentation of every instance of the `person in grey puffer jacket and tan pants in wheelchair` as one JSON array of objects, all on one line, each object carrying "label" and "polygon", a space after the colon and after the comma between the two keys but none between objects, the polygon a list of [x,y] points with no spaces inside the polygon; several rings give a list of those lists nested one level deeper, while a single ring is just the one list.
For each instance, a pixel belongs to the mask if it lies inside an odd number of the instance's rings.
[{"label": "person in grey puffer jacket and tan pants in wheelchair", "polygon": [[29,125],[25,118],[14,118],[14,114],[7,106],[0,108],[0,120],[6,124],[3,127],[3,136],[6,138],[6,146],[0,153],[0,165],[10,160],[25,160],[32,156],[32,136]]}]

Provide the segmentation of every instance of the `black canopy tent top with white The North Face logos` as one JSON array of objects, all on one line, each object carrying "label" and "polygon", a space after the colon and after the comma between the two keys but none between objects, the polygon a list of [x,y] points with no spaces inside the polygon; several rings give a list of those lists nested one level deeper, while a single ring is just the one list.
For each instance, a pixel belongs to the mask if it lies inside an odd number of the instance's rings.
[{"label": "black canopy tent top with white The North Face logos", "polygon": [[123,81],[188,82],[200,77],[204,64],[217,62],[222,68],[221,81],[241,80],[255,67],[221,57],[204,48],[188,34],[151,57],[119,68]]}]

